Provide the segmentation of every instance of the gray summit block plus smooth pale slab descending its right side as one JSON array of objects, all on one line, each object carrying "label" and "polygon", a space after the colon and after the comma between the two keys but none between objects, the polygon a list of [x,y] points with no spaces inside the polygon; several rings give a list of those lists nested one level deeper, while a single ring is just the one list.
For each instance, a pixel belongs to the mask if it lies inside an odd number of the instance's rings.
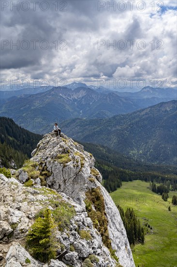
[{"label": "gray summit block plus smooth pale slab descending its right side", "polygon": [[[133,256],[125,228],[116,205],[100,184],[102,176],[94,167],[94,157],[84,151],[83,146],[75,144],[71,138],[62,136],[45,134],[37,149],[32,152],[31,160],[40,162],[42,158],[47,170],[52,172],[52,175],[46,180],[48,186],[58,192],[64,192],[83,207],[85,207],[85,192],[93,187],[101,188],[112,247],[117,251],[122,266],[133,267]],[[62,164],[60,160],[57,160],[58,155],[66,154],[68,155],[67,163]],[[95,178],[93,183],[90,183],[90,178]],[[79,247],[82,247],[82,244],[78,246],[78,249]],[[85,247],[85,253],[88,253],[87,247]]]}]

